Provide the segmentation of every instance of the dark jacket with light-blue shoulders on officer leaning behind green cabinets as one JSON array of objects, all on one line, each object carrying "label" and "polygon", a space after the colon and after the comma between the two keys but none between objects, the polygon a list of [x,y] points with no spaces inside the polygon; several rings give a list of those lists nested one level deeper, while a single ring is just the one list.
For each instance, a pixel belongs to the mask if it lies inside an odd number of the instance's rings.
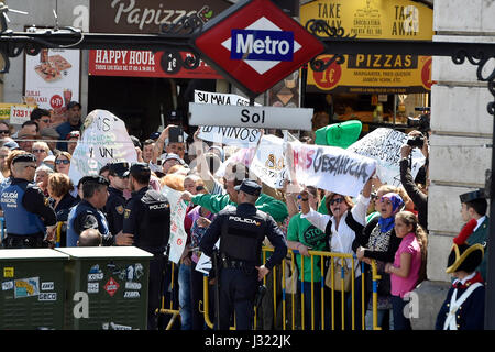
[{"label": "dark jacket with light-blue shoulders on officer leaning behind green cabinets", "polygon": [[82,199],[70,209],[67,219],[67,246],[76,246],[79,234],[87,229],[98,229],[103,239],[103,245],[114,244],[114,238],[109,231],[105,215],[89,201]]}]

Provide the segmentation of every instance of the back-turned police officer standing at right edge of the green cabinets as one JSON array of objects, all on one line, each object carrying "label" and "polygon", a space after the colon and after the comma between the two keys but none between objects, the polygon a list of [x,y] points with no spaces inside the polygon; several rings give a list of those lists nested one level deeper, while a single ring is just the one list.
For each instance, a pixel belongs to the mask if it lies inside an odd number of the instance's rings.
[{"label": "back-turned police officer standing at right edge of the green cabinets", "polygon": [[129,184],[132,198],[124,210],[123,234],[133,239],[133,245],[154,254],[150,262],[147,329],[156,330],[156,309],[160,308],[164,252],[170,235],[170,207],[167,198],[151,188],[151,170],[145,163],[130,168]]}]

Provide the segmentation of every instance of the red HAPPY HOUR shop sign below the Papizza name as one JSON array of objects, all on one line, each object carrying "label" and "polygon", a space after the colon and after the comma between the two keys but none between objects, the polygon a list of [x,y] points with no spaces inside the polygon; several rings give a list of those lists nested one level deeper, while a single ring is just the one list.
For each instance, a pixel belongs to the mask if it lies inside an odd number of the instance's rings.
[{"label": "red HAPPY HOUR shop sign below the Papizza name", "polygon": [[[164,55],[170,55],[166,59]],[[180,66],[180,55],[184,61],[191,54],[180,53],[153,53],[151,51],[89,51],[89,75],[94,76],[123,76],[123,77],[176,77],[176,78],[202,78],[221,79],[211,66],[200,62],[195,69],[186,69]]]}]

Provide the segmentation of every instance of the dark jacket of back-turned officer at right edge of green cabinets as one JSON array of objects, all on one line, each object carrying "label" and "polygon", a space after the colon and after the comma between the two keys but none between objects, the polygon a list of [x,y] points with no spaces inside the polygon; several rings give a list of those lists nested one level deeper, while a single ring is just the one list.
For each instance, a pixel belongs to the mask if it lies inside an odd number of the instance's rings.
[{"label": "dark jacket of back-turned officer at right edge of green cabinets", "polygon": [[167,198],[151,187],[132,193],[124,209],[122,231],[134,235],[135,246],[154,254],[163,253],[170,235]]}]

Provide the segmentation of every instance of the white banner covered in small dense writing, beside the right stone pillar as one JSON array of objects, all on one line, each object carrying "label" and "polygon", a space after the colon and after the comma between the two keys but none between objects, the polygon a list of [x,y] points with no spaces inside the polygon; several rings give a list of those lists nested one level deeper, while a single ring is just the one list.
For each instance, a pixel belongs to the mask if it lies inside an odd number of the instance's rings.
[{"label": "white banner covered in small dense writing, beside the right stone pillar", "polygon": [[[346,150],[374,158],[378,162],[376,175],[384,184],[400,186],[400,146],[406,144],[407,134],[393,129],[380,128],[350,145]],[[418,148],[413,153],[413,178],[425,164],[425,155]]]}]

